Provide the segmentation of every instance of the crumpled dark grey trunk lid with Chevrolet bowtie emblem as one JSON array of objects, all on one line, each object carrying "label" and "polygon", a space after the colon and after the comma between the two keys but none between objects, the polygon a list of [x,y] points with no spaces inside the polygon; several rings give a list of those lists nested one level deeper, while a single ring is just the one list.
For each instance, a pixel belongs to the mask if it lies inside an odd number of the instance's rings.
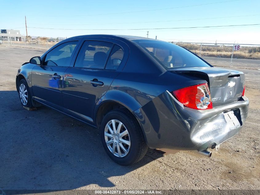
[{"label": "crumpled dark grey trunk lid with Chevrolet bowtie emblem", "polygon": [[238,101],[245,86],[243,72],[216,67],[187,67],[170,70],[208,82],[213,107]]}]

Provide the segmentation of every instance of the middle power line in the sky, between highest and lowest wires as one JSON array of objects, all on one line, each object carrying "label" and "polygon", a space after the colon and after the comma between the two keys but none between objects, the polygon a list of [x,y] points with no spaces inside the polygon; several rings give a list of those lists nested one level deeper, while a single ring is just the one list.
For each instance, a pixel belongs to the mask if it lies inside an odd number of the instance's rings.
[{"label": "middle power line in the sky, between highest and lowest wires", "polygon": [[[237,17],[248,17],[248,16],[259,16],[255,15],[242,15],[242,16],[227,16],[227,17],[216,17],[216,18],[196,18],[196,19],[186,19],[186,20],[163,20],[163,21],[151,21],[151,22],[123,22],[123,23],[93,23],[93,24],[39,24],[38,25],[66,25],[66,26],[78,26],[78,25],[108,25],[108,24],[140,24],[140,23],[155,23],[155,22],[180,22],[180,21],[191,21],[191,20],[206,20],[206,19],[220,19],[220,18],[237,18]],[[35,23],[32,23],[35,24]]]}]

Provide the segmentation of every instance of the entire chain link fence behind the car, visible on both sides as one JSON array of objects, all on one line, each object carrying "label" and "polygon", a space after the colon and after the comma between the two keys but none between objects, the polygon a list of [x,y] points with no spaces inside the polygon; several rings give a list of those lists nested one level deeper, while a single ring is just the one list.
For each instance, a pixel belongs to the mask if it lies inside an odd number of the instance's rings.
[{"label": "entire chain link fence behind the car, visible on both sides", "polygon": [[[48,50],[63,39],[0,38],[2,46]],[[170,42],[184,47],[213,66],[260,69],[260,45],[230,43]],[[239,49],[238,49],[239,47]]]}]

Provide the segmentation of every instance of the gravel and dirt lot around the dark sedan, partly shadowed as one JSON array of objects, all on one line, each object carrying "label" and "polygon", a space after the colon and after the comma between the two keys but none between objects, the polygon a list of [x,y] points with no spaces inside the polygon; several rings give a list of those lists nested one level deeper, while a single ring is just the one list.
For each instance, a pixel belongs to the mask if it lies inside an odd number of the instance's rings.
[{"label": "gravel and dirt lot around the dark sedan, partly shadowed", "polygon": [[[1,189],[260,189],[260,71],[246,73],[242,131],[211,158],[149,149],[133,166],[106,155],[97,129],[46,107],[22,108],[17,69],[45,51],[0,47]],[[244,67],[242,67],[244,68]]]}]

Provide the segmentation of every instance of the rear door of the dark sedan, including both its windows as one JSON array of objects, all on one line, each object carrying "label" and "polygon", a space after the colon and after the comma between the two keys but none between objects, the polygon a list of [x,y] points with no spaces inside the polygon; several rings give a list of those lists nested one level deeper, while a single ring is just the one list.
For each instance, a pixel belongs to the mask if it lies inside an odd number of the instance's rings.
[{"label": "rear door of the dark sedan, including both its windows", "polygon": [[64,112],[93,124],[97,101],[122,71],[129,54],[125,43],[108,38],[82,41],[74,66],[64,74]]}]

